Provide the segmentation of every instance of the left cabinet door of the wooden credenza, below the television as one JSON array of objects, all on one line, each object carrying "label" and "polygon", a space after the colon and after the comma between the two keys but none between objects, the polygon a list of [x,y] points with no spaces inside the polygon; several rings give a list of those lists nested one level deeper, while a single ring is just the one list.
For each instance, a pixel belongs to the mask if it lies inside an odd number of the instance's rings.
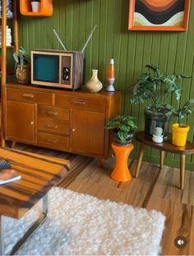
[{"label": "left cabinet door of the wooden credenza, below the television", "polygon": [[7,139],[34,142],[34,104],[7,100]]}]

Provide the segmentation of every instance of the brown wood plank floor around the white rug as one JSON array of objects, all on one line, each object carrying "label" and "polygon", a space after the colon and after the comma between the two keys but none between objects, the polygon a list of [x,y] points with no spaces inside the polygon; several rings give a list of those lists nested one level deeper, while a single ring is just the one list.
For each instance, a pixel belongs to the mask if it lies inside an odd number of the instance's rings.
[{"label": "brown wood plank floor around the white rug", "polygon": [[[119,183],[109,177],[115,162],[113,158],[104,160],[102,167],[97,159],[87,156],[22,144],[17,144],[16,149],[70,160],[71,171],[58,184],[62,188],[163,212],[167,220],[162,239],[162,254],[194,254],[194,172],[186,171],[183,191],[178,188],[178,169],[164,166],[164,170],[160,171],[159,165],[146,162],[141,165],[138,178]],[[136,161],[129,161],[129,165],[134,175]],[[187,238],[187,245],[183,249],[178,249],[173,243],[179,235]]]}]

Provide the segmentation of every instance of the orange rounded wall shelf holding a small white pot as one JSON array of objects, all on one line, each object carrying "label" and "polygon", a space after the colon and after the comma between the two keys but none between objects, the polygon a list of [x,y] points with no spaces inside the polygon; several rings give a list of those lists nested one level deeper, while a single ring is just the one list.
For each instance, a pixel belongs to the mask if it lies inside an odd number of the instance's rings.
[{"label": "orange rounded wall shelf holding a small white pot", "polygon": [[20,0],[20,11],[25,16],[52,16],[53,0],[42,0],[40,2],[40,12],[32,12],[29,0]]}]

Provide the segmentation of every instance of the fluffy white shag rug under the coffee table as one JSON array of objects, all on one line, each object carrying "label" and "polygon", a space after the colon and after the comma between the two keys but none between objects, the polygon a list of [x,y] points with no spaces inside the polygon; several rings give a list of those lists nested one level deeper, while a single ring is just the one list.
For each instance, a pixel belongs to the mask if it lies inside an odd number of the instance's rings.
[{"label": "fluffy white shag rug under the coffee table", "polygon": [[[49,193],[50,213],[20,255],[157,255],[165,216],[68,189]],[[39,202],[19,221],[4,218],[6,254],[39,216]]]}]

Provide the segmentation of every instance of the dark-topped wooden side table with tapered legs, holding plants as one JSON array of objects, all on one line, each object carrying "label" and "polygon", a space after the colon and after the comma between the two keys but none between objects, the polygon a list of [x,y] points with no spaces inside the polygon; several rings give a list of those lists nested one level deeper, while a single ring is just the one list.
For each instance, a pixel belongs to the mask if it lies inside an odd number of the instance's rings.
[{"label": "dark-topped wooden side table with tapered legs, holding plants", "polygon": [[136,140],[141,143],[140,151],[138,154],[135,176],[139,174],[141,167],[141,161],[143,157],[144,146],[156,148],[160,151],[160,168],[164,166],[164,152],[171,152],[180,155],[180,189],[184,187],[184,175],[185,175],[185,156],[194,153],[194,145],[191,142],[186,143],[185,147],[176,147],[172,144],[172,134],[169,133],[169,137],[162,143],[155,143],[152,141],[152,137],[147,136],[143,131],[136,133]]}]

